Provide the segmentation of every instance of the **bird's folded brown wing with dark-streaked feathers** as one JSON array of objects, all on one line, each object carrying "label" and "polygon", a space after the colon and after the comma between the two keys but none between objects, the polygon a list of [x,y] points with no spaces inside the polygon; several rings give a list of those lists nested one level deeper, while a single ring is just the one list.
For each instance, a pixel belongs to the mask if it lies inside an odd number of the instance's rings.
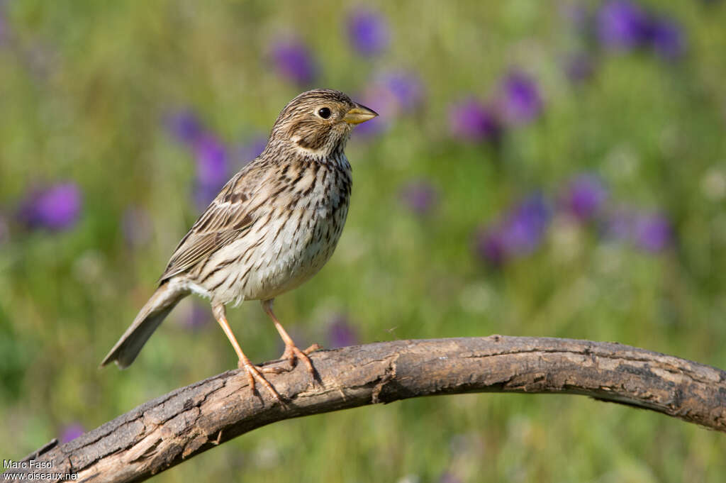
[{"label": "bird's folded brown wing with dark-streaked feathers", "polygon": [[256,174],[254,169],[244,169],[224,185],[176,246],[160,282],[187,272],[199,261],[237,240],[253,224],[257,207],[254,199],[261,182],[261,176]]}]

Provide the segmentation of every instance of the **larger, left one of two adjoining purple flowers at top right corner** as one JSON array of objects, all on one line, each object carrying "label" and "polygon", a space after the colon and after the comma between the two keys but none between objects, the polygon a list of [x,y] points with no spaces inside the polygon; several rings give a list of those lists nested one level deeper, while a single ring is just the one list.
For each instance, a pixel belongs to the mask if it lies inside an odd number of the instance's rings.
[{"label": "larger, left one of two adjoining purple flowers at top right corner", "polygon": [[642,46],[648,38],[648,15],[629,0],[605,1],[595,17],[597,38],[608,49]]}]

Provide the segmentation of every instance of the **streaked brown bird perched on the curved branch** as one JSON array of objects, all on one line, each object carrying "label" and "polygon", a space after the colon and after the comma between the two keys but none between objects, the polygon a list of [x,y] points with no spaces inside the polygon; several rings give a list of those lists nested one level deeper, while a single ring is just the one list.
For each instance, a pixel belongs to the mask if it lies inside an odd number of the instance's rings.
[{"label": "streaked brown bird perched on the curved branch", "polygon": [[315,275],[333,255],[348,214],[352,170],[344,148],[356,124],[378,113],[333,89],[303,92],[277,116],[260,155],[221,188],[176,246],[158,288],[101,362],[126,368],[176,304],[194,293],[209,299],[214,318],[247,372],[280,394],[240,348],[227,322],[227,304],[261,301],[294,367],[307,355],[273,312],[275,297]]}]

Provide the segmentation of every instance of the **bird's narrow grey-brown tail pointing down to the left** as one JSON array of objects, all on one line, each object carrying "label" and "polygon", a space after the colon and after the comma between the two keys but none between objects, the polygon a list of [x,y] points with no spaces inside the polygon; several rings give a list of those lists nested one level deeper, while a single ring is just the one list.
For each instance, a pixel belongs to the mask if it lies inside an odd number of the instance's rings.
[{"label": "bird's narrow grey-brown tail pointing down to the left", "polygon": [[171,285],[165,283],[156,289],[154,295],[136,315],[134,323],[126,329],[111,352],[101,362],[101,366],[115,361],[116,365],[123,369],[128,368],[131,362],[134,362],[146,341],[171,312],[171,309],[174,309],[181,299],[189,295],[188,291],[180,291],[179,288]]}]

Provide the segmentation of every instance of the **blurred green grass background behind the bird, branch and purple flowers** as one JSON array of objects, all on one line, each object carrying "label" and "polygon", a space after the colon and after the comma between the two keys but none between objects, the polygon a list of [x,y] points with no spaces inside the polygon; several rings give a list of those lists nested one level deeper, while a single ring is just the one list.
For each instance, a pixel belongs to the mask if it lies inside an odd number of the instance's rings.
[{"label": "blurred green grass background behind the bird, branch and purple flowers", "polygon": [[[590,82],[571,86],[560,60],[576,40],[554,2],[380,2],[392,41],[370,60],[346,42],[350,6],[328,0],[6,2],[0,212],[12,215],[28,187],[56,179],[81,186],[84,209],[73,230],[13,225],[0,245],[0,455],[19,458],[70,423],[92,429],[234,367],[215,325],[182,323],[185,301],[129,370],[97,370],[198,214],[192,157],[164,116],[189,107],[230,144],[268,131],[301,90],[268,61],[289,32],[316,54],[319,86],[354,94],[376,71],[403,65],[426,95],[389,131],[351,140],[354,195],[338,251],[277,301],[299,345],[325,341],[327,319],[343,312],[363,343],[589,338],[725,368],[726,217],[703,178],[726,171],[726,7],[707,3],[649,3],[684,26],[680,62],[609,55]],[[499,150],[449,139],[449,102],[488,97],[512,65],[537,78],[542,118]],[[647,254],[555,222],[539,250],[501,270],[476,259],[476,227],[582,171],[602,176],[615,200],[666,211],[675,248]],[[423,218],[399,203],[401,184],[418,177],[441,199]],[[129,206],[150,214],[141,249],[123,242]],[[277,357],[256,303],[229,318],[250,358]],[[479,394],[277,423],[156,480],[720,482],[725,452],[721,434],[654,413]]]}]

